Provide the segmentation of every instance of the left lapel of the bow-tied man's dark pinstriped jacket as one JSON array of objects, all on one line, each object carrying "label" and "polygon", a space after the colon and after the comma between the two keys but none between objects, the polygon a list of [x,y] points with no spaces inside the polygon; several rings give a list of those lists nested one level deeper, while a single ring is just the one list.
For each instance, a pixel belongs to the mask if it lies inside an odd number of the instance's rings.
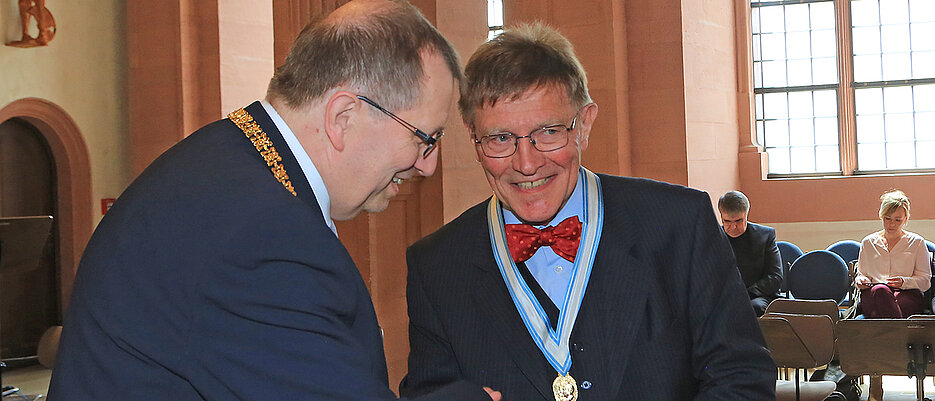
[{"label": "left lapel of the bow-tied man's dark pinstriped jacket", "polygon": [[[484,210],[486,211],[486,208]],[[493,258],[485,216],[485,213],[480,214],[479,224],[472,225],[478,228],[472,235],[473,249],[477,249],[472,264],[479,273],[479,279],[474,282],[474,303],[481,314],[489,315],[490,320],[487,323],[490,331],[494,333],[493,337],[503,342],[502,348],[507,350],[523,375],[542,394],[543,399],[551,400],[554,398],[552,380],[555,379],[555,370],[532,341],[529,331],[516,311],[516,305],[513,304]]]}]

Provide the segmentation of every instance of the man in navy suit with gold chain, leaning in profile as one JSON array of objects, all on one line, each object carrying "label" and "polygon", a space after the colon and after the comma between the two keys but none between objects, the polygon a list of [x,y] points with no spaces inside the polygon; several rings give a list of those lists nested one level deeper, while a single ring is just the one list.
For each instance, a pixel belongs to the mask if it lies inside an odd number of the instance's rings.
[{"label": "man in navy suit with gold chain, leaning in profile", "polygon": [[[395,400],[333,220],[433,173],[460,77],[405,2],[352,1],[307,27],[265,101],[172,147],[101,221],[49,398]],[[424,399],[488,392],[462,381]]]}]

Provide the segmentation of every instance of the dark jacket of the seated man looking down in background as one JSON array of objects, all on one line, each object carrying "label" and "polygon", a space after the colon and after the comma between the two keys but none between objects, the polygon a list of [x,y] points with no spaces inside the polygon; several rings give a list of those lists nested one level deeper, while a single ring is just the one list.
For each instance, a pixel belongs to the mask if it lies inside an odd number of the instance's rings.
[{"label": "dark jacket of the seated man looking down in background", "polygon": [[729,239],[750,298],[770,301],[778,298],[782,285],[782,259],[776,245],[776,230],[748,222],[743,234]]}]

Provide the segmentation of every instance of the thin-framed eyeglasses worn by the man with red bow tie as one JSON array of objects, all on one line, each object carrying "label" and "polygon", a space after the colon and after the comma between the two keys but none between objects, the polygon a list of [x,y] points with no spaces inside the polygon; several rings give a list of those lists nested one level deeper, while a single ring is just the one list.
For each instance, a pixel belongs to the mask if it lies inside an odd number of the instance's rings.
[{"label": "thin-framed eyeglasses worn by the man with red bow tie", "polygon": [[474,138],[474,143],[480,145],[484,156],[496,159],[510,157],[516,153],[519,147],[519,140],[529,138],[532,146],[540,152],[551,152],[559,150],[568,145],[568,133],[575,129],[575,123],[578,121],[578,114],[571,120],[569,126],[563,124],[548,125],[532,130],[529,135],[517,136],[512,132],[494,132],[487,134],[480,139]]}]

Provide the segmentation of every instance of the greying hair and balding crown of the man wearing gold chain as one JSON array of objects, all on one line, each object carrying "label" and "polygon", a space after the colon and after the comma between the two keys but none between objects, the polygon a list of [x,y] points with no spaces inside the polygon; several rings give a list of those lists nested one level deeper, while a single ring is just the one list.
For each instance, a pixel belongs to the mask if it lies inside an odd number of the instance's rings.
[{"label": "greying hair and balding crown of the man wearing gold chain", "polygon": [[421,95],[424,53],[441,55],[460,82],[457,53],[418,9],[405,1],[351,1],[302,30],[267,98],[299,109],[345,87],[406,110]]}]

